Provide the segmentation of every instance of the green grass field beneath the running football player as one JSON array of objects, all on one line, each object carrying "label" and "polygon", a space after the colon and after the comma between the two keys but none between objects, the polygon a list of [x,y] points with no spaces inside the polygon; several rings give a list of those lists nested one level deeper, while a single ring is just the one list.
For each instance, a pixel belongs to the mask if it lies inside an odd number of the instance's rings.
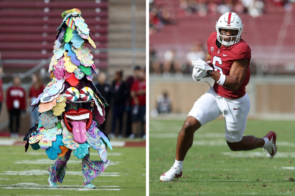
[{"label": "green grass field beneath the running football player", "polygon": [[160,182],[160,175],[174,163],[183,122],[150,120],[150,195],[295,195],[295,121],[248,120],[244,135],[277,133],[273,159],[262,148],[230,151],[224,121],[212,121],[194,134],[182,177]]}]

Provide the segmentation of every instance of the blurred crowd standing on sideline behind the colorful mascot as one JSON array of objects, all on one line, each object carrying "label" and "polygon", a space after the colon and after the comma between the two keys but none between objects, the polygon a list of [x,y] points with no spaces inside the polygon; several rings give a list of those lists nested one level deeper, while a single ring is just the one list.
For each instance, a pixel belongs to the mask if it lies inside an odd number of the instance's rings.
[{"label": "blurred crowd standing on sideline behind the colorful mascot", "polygon": [[[0,61],[1,62],[1,61]],[[27,97],[30,103],[34,101],[45,88],[39,75],[31,76],[31,85],[26,92],[21,84],[21,78],[16,76],[13,78],[13,84],[8,87],[6,95],[2,92],[2,73],[3,69],[0,65],[0,112],[2,104],[6,104],[9,114],[9,130],[11,137],[18,137],[21,123],[21,115],[26,113]],[[114,75],[114,80],[108,82],[108,76],[101,72],[97,80],[93,82],[97,90],[108,102],[109,106],[105,107],[105,122],[101,124],[103,130],[110,138],[136,138],[145,139],[145,69],[136,66],[133,75],[123,79],[123,71],[118,70]],[[31,119],[31,127],[38,120],[38,109],[31,106],[29,114]],[[109,127],[107,125],[110,124]]]}]

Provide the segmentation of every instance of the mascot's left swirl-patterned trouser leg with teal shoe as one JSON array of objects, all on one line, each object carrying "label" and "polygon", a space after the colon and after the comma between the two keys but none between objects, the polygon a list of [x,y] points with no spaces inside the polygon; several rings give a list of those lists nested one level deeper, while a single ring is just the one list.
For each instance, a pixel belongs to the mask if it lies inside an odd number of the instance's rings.
[{"label": "mascot's left swirl-patterned trouser leg with teal shoe", "polygon": [[59,181],[60,183],[63,181],[65,177],[65,170],[67,168],[67,161],[71,156],[72,150],[69,150],[65,153],[64,157],[58,158],[52,165],[49,166],[49,178],[48,183],[50,187],[57,188],[56,182]]}]

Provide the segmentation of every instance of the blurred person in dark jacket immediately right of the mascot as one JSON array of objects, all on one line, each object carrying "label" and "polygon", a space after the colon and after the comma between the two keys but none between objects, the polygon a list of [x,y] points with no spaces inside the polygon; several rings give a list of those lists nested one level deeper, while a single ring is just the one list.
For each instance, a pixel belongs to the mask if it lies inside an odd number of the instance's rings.
[{"label": "blurred person in dark jacket immediately right of the mascot", "polygon": [[[110,84],[106,82],[106,75],[104,72],[100,72],[97,77],[98,83],[96,83],[96,89],[101,93],[101,96],[110,104],[111,100],[111,88]],[[105,130],[105,125],[107,124],[107,116],[110,110],[110,106],[105,106],[105,121],[101,124],[101,128]]]}]

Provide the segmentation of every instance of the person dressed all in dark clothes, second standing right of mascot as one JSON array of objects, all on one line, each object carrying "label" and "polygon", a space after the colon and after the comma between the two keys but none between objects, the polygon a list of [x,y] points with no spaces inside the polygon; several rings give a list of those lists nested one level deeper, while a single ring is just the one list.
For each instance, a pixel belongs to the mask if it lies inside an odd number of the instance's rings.
[{"label": "person dressed all in dark clothes, second standing right of mascot", "polygon": [[123,71],[117,71],[113,81],[113,119],[112,132],[109,134],[110,138],[115,137],[116,121],[119,121],[118,137],[122,138],[123,132],[123,114],[125,111],[126,98],[128,95],[127,84],[122,81]]}]

